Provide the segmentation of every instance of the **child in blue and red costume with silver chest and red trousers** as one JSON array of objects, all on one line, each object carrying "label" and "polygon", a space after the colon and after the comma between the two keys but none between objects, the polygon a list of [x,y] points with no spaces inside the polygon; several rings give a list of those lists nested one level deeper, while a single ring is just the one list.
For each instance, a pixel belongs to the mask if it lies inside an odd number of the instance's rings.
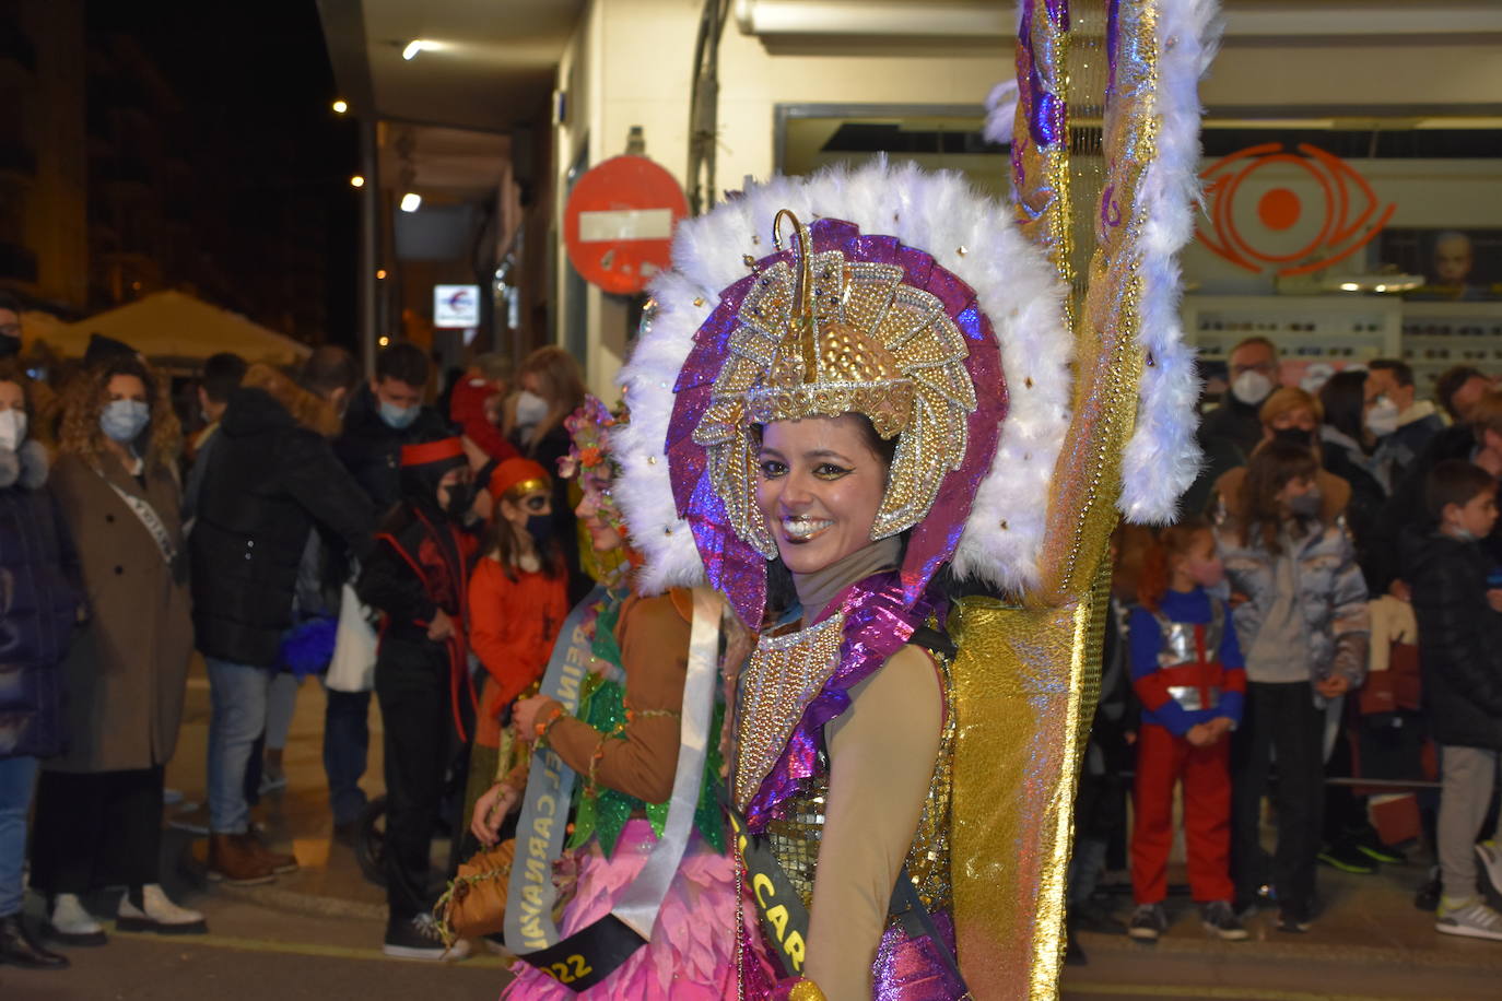
[{"label": "child in blue and red costume with silver chest and red trousers", "polygon": [[1247,675],[1226,602],[1215,534],[1188,518],[1158,533],[1131,614],[1133,690],[1142,701],[1136,815],[1131,834],[1133,912],[1126,933],[1157,941],[1169,930],[1173,788],[1184,782],[1190,890],[1200,921],[1226,941],[1247,938],[1232,908],[1230,732],[1241,722]]}]

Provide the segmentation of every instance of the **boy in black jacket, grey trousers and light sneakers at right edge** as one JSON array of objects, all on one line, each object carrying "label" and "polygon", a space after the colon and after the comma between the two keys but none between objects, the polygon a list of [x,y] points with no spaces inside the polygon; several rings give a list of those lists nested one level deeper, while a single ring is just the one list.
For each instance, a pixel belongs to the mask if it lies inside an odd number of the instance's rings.
[{"label": "boy in black jacket, grey trousers and light sneakers at right edge", "polygon": [[[1502,752],[1502,590],[1496,561],[1476,545],[1497,521],[1491,473],[1460,459],[1428,479],[1439,530],[1413,545],[1410,584],[1430,732],[1440,744],[1439,869],[1434,927],[1502,941],[1502,914],[1476,896],[1476,860],[1502,876],[1502,830],[1476,845]],[[1502,885],[1496,887],[1502,890]]]}]

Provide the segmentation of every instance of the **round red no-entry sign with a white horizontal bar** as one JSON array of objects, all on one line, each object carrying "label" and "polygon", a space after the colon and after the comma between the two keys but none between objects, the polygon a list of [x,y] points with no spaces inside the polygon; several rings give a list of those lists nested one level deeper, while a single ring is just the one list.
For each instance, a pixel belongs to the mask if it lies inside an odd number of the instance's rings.
[{"label": "round red no-entry sign with a white horizontal bar", "polygon": [[568,260],[607,293],[640,293],[668,266],[673,227],[688,200],[667,170],[644,156],[616,156],[589,170],[563,209]]}]

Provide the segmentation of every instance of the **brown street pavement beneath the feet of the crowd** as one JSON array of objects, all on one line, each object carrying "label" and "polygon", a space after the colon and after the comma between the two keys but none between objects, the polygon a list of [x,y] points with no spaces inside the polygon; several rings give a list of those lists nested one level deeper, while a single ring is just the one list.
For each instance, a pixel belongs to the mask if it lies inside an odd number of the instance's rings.
[{"label": "brown street pavement beneath the feet of the crowd", "polygon": [[[302,872],[263,887],[231,888],[203,879],[203,842],[170,831],[162,876],[179,902],[201,909],[210,933],[162,939],[111,935],[101,948],[71,948],[72,968],[30,972],[0,966],[0,1001],[303,1001],[327,998],[491,1001],[509,974],[476,953],[460,963],[382,956],[385,894],[368,882],[353,852],[332,840],[321,765],[323,692],[303,686],[285,761],[288,788],[258,807],[273,846],[291,849]],[[380,722],[372,713],[371,771],[380,782]],[[188,711],[168,785],[201,800],[207,686],[189,678]],[[170,813],[173,810],[170,809]],[[445,857],[446,845],[434,849]],[[1199,926],[1187,897],[1170,899],[1170,932],[1157,945],[1122,935],[1083,933],[1089,959],[1069,966],[1066,1001],[1203,998],[1206,1001],[1493,1001],[1502,998],[1502,942],[1455,939],[1433,930],[1433,915],[1412,905],[1424,864],[1388,866],[1374,876],[1320,872],[1325,911],[1307,935],[1251,920],[1245,942],[1221,942]],[[1182,872],[1176,870],[1179,878]],[[1130,894],[1117,885],[1117,917]],[[95,902],[96,912],[111,906]],[[39,917],[41,902],[29,899]]]}]

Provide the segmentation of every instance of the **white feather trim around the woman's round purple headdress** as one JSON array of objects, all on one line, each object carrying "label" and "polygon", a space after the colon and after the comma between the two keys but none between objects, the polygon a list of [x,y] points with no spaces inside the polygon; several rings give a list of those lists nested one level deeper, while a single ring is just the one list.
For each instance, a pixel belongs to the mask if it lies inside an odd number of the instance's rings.
[{"label": "white feather trim around the woman's round purple headdress", "polygon": [[1011,209],[975,194],[958,174],[883,161],[749,188],[673,237],[673,272],[652,285],[658,312],[622,369],[631,422],[613,432],[622,465],[613,497],[646,557],[647,591],[703,582],[688,525],[677,518],[664,455],[673,384],[719,290],[746,275],[742,255],[772,251],[772,219],[853,222],[934,257],[975,290],[1000,344],[1008,413],[990,473],[954,557],[955,572],[1021,591],[1036,581],[1048,489],[1069,423],[1072,338],[1063,288],[1042,254],[1017,231]]}]

